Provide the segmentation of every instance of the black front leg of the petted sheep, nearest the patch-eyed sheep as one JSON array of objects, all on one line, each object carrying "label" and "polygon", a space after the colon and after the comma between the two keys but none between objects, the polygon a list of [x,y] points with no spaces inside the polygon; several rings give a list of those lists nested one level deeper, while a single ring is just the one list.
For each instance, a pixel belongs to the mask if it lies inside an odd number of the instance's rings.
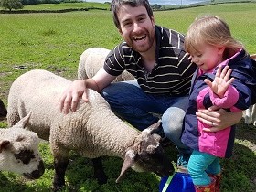
[{"label": "black front leg of the petted sheep, nearest the patch-eyed sheep", "polygon": [[67,166],[69,165],[69,158],[60,157],[54,158],[54,181],[53,181],[53,190],[59,191],[62,187],[65,186],[65,172]]}]

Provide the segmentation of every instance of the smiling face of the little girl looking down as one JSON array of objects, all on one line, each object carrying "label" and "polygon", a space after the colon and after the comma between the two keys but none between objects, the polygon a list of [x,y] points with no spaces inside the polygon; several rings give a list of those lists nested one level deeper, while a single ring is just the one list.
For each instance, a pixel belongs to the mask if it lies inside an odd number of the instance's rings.
[{"label": "smiling face of the little girl looking down", "polygon": [[202,43],[197,51],[190,53],[192,62],[204,72],[214,69],[222,61],[224,47],[212,46]]}]

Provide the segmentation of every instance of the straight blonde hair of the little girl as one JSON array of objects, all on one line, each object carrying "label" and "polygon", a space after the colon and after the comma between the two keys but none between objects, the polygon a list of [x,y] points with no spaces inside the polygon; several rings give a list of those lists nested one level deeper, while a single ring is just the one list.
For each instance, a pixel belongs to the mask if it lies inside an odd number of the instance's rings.
[{"label": "straight blonde hair of the little girl", "polygon": [[243,48],[243,45],[231,36],[229,25],[218,16],[197,16],[188,27],[185,39],[186,51],[195,53],[203,43],[225,47],[227,57]]}]

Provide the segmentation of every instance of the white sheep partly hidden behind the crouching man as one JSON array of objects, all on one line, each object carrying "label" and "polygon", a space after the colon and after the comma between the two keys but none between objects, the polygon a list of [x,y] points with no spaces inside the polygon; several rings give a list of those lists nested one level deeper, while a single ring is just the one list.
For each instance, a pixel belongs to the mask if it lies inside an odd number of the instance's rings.
[{"label": "white sheep partly hidden behind the crouching man", "polygon": [[[92,78],[104,65],[107,55],[110,53],[106,48],[88,48],[80,55],[78,79]],[[124,70],[114,81],[135,80],[133,75]]]}]

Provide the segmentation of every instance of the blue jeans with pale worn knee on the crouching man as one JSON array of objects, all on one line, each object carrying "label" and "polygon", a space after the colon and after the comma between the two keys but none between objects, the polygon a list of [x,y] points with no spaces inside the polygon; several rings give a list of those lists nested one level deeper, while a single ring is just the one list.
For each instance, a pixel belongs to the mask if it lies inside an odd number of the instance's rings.
[{"label": "blue jeans with pale worn knee on the crouching man", "polygon": [[181,143],[183,119],[188,97],[171,97],[145,93],[136,80],[113,82],[101,91],[110,104],[112,112],[131,123],[138,130],[144,130],[162,116],[162,127],[180,153],[191,153],[187,145]]}]

